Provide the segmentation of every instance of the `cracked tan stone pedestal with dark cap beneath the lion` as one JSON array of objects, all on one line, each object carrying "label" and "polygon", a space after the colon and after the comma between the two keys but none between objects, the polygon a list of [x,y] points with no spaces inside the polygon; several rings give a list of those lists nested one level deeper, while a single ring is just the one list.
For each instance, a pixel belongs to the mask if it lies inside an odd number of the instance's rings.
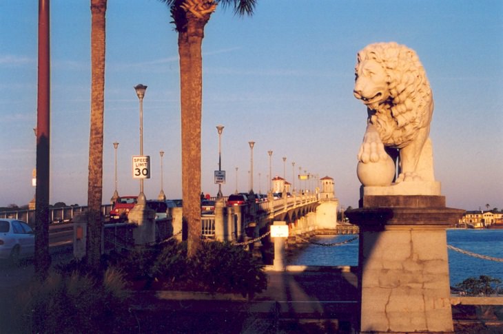
[{"label": "cracked tan stone pedestal with dark cap beneath the lion", "polygon": [[363,196],[360,333],[453,333],[446,228],[464,210],[444,196]]}]

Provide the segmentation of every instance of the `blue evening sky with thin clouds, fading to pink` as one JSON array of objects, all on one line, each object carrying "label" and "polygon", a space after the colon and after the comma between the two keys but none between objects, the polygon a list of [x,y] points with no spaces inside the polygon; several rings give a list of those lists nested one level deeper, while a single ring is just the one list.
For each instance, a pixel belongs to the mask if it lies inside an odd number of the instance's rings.
[{"label": "blue evening sky with thin clouds, fading to pink", "polygon": [[[51,1],[50,202],[87,204],[90,132],[90,1]],[[147,85],[143,147],[152,178],[181,197],[177,34],[156,0],[109,0],[105,65],[103,202],[114,191],[119,142],[120,195],[136,195],[131,157],[139,154],[139,103]],[[34,197],[38,1],[0,0],[0,206]],[[503,1],[262,0],[253,17],[217,8],[203,40],[202,185],[216,195],[216,125],[222,135],[223,194],[254,191],[272,176],[292,182],[298,167],[331,176],[340,205],[358,205],[356,154],[365,106],[353,97],[356,54],[396,41],[415,50],[431,83],[435,177],[449,207],[503,208]],[[286,164],[283,156],[287,157]],[[295,169],[291,163],[295,162]],[[238,172],[236,174],[236,167]],[[259,176],[260,174],[260,176]],[[295,181],[298,187],[298,180]]]}]

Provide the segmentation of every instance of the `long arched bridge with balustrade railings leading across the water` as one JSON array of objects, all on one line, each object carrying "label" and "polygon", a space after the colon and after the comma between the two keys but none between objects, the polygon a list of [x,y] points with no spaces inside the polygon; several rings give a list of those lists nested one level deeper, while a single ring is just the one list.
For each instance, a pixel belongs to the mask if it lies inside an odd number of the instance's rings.
[{"label": "long arched bridge with balustrade railings leading across the water", "polygon": [[[260,202],[249,201],[244,205],[227,206],[227,198],[216,200],[213,214],[201,215],[201,238],[229,242],[246,242],[263,238],[275,221],[283,221],[289,226],[289,242],[299,242],[301,238],[319,233],[358,233],[358,231],[337,230],[337,198],[320,198],[319,194],[293,194],[274,199],[271,195]],[[219,204],[220,203],[220,204]],[[103,205],[105,217],[104,249],[132,246],[136,242],[132,237],[135,224],[109,224],[107,216],[111,205]],[[87,211],[85,206],[52,207],[49,210],[51,223],[75,222]],[[183,238],[183,207],[170,208],[167,218],[155,221],[156,241],[170,237]],[[34,225],[34,210],[0,212],[0,218],[16,218]],[[297,238],[298,237],[298,238]],[[300,238],[300,239],[299,239]],[[296,241],[297,240],[297,241]]]}]

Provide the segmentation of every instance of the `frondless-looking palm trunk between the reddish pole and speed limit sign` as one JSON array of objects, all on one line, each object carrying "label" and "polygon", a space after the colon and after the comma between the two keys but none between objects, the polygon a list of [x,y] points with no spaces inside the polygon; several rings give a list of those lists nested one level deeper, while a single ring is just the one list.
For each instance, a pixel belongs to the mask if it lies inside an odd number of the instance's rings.
[{"label": "frondless-looking palm trunk between the reddish pole and speed limit sign", "polygon": [[91,129],[88,176],[88,264],[98,269],[101,258],[103,190],[103,101],[105,95],[105,13],[107,0],[91,0]]}]

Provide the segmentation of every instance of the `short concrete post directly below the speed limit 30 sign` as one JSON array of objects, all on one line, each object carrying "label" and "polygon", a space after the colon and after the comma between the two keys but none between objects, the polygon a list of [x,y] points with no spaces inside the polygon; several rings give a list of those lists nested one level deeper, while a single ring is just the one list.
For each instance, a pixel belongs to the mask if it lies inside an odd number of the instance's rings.
[{"label": "short concrete post directly below the speed limit 30 sign", "polygon": [[136,203],[127,214],[127,219],[137,225],[133,231],[134,244],[156,242],[156,212],[145,204]]}]

